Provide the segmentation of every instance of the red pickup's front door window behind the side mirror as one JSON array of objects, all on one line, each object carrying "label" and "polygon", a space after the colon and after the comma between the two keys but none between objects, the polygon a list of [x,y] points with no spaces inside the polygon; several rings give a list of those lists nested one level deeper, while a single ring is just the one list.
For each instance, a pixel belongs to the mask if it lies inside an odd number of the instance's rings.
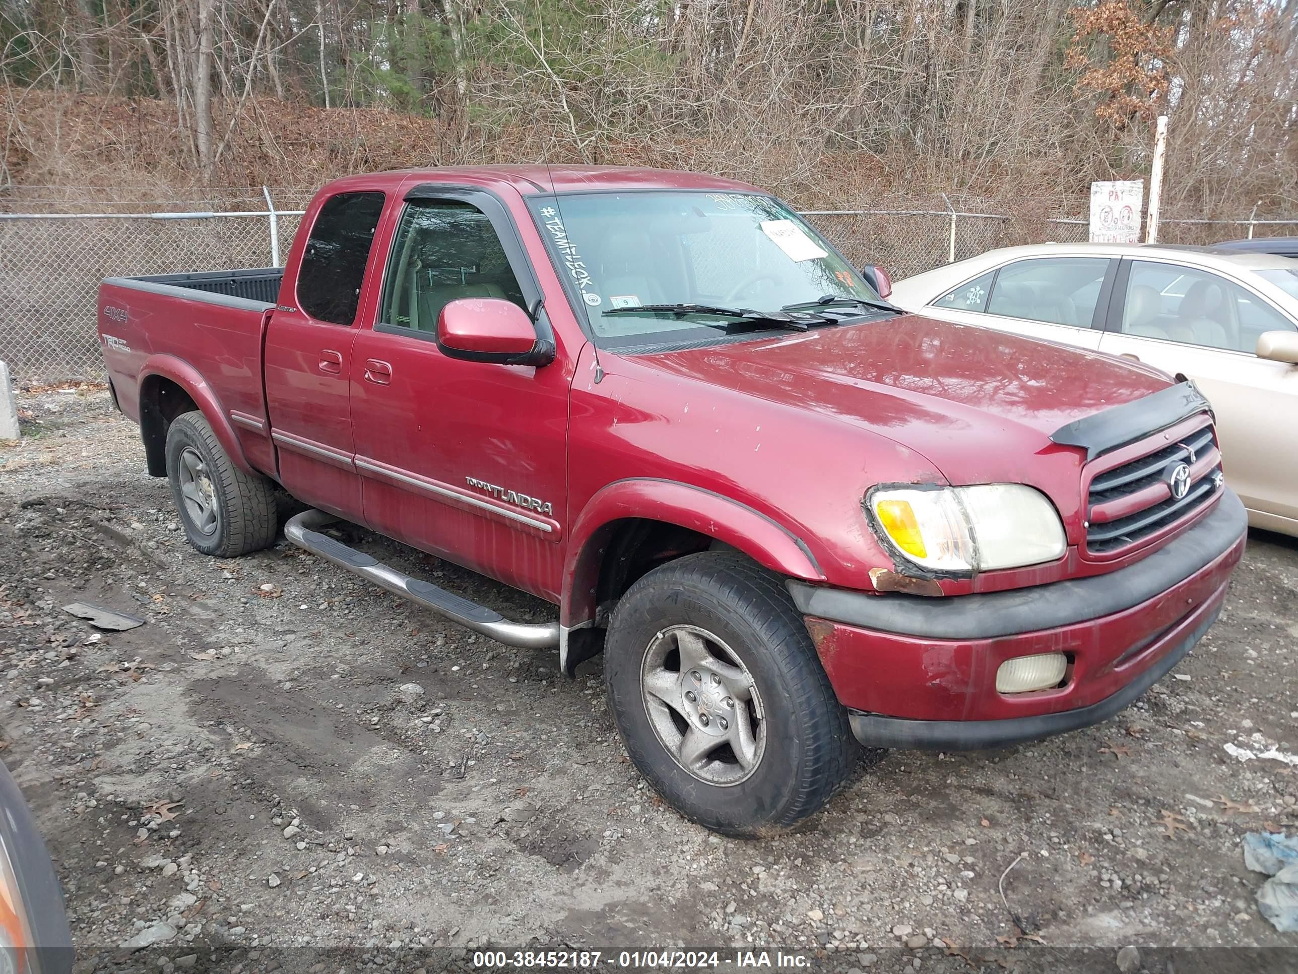
[{"label": "red pickup's front door window behind the side mirror", "polygon": [[502,297],[527,310],[485,213],[458,200],[413,200],[392,243],[379,321],[435,332],[458,297]]}]

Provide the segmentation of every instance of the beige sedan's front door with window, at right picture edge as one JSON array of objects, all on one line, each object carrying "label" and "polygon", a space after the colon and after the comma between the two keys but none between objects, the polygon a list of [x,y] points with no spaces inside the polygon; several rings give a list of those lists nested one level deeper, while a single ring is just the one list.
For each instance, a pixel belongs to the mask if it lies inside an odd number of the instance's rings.
[{"label": "beige sedan's front door with window, at right picture edge", "polygon": [[1099,351],[1194,381],[1216,413],[1227,483],[1250,510],[1298,518],[1298,366],[1258,358],[1258,335],[1294,323],[1215,271],[1124,260]]}]

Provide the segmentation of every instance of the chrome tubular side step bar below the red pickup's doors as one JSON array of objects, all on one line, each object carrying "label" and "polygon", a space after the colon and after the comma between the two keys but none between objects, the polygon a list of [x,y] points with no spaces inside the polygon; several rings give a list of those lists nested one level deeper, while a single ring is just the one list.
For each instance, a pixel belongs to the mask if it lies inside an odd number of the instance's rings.
[{"label": "chrome tubular side step bar below the red pickup's doors", "polygon": [[305,548],[312,555],[318,555],[339,568],[367,578],[389,592],[409,599],[426,609],[432,609],[439,616],[444,616],[465,629],[491,636],[497,643],[517,645],[522,649],[548,649],[559,644],[558,622],[540,625],[510,622],[495,609],[488,609],[485,605],[461,599],[445,588],[437,588],[435,584],[411,578],[404,571],[397,571],[365,552],[349,548],[315,530],[339,519],[323,510],[304,510],[301,514],[288,518],[284,525],[284,536],[299,548]]}]

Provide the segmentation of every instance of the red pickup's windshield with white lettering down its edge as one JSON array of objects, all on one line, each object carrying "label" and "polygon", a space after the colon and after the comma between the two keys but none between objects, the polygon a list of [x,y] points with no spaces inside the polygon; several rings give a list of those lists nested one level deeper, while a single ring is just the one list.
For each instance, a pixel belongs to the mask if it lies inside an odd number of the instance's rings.
[{"label": "red pickup's windshield with white lettering down its edge", "polygon": [[[643,305],[771,312],[827,295],[880,301],[824,238],[770,196],[593,192],[532,205],[561,277],[583,301],[594,336],[605,339],[600,344],[723,335],[724,317],[631,310]],[[623,310],[609,313],[615,309]],[[875,312],[853,309],[851,317],[862,313]]]}]

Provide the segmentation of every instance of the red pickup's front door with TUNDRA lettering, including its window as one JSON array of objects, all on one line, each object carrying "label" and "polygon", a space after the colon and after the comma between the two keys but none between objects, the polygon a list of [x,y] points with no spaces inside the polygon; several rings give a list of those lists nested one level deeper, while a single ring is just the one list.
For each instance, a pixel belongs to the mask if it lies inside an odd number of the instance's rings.
[{"label": "red pickup's front door with TUNDRA lettering, including its window", "polygon": [[557,601],[571,381],[562,349],[537,369],[456,360],[436,344],[449,301],[528,309],[540,293],[496,196],[417,187],[392,235],[375,323],[353,347],[352,425],[370,527]]}]

